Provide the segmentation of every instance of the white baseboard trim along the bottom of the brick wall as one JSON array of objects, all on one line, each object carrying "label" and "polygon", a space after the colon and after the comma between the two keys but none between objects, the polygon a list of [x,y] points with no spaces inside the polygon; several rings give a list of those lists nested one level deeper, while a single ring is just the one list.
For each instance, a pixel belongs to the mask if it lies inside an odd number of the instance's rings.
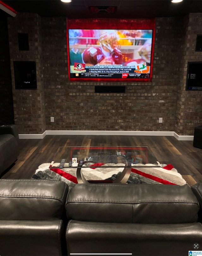
[{"label": "white baseboard trim along the bottom of the brick wall", "polygon": [[19,134],[20,139],[43,139],[46,135],[125,135],[125,136],[174,136],[177,140],[193,140],[193,136],[178,135],[175,131],[59,131],[46,130],[42,134]]}]

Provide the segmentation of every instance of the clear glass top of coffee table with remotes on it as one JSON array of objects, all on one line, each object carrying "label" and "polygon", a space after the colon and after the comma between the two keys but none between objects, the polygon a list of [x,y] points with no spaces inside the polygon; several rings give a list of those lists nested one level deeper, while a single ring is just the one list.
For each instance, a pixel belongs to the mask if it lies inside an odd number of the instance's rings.
[{"label": "clear glass top of coffee table with remotes on it", "polygon": [[[52,168],[59,166],[61,168],[75,168],[80,161],[82,165],[85,162],[91,162],[124,163],[126,166],[131,166],[131,164],[137,163],[156,163],[157,159],[147,146],[73,146],[59,147],[51,165]],[[85,168],[85,164],[83,168]]]}]

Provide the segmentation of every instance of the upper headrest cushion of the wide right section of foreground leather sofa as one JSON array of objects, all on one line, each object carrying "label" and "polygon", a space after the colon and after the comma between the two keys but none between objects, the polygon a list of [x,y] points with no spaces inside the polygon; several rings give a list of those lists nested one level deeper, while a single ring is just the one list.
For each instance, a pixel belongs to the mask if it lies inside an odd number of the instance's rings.
[{"label": "upper headrest cushion of the wide right section of foreground leather sofa", "polygon": [[199,203],[188,185],[76,184],[66,201],[68,219],[116,223],[191,223]]}]

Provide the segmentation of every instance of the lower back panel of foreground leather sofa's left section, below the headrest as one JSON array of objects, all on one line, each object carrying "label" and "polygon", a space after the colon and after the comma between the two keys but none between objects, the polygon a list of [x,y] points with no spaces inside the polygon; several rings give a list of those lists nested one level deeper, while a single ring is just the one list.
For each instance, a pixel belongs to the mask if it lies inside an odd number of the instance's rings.
[{"label": "lower back panel of foreground leather sofa's left section, below the headrest", "polygon": [[1,255],[67,255],[62,220],[0,220]]}]

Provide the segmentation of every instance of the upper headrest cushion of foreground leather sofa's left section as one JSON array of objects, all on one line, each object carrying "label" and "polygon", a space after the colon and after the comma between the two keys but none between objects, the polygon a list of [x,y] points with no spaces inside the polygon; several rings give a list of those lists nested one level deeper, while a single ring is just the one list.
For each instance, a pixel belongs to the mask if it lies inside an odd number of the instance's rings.
[{"label": "upper headrest cushion of foreground leather sofa's left section", "polygon": [[64,214],[68,185],[49,180],[0,180],[0,220],[55,220]]}]

